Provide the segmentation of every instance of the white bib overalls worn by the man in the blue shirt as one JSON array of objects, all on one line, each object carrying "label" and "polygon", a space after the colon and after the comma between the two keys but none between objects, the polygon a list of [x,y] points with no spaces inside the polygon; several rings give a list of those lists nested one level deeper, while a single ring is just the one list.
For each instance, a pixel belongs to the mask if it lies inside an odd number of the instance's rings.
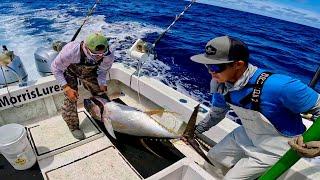
[{"label": "white bib overalls worn by the man in the blue shirt", "polygon": [[227,100],[241,119],[242,126],[229,133],[208,152],[213,163],[231,168],[224,179],[258,178],[290,148],[288,141],[291,138],[281,135],[259,112],[260,93],[269,76],[268,73],[259,76],[263,82],[259,84],[257,81],[251,94],[252,110],[233,105]]}]

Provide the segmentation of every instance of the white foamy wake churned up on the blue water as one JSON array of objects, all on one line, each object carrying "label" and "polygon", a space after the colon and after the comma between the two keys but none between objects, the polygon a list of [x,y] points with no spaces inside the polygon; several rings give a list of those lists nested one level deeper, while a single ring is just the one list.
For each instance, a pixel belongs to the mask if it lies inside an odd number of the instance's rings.
[{"label": "white foamy wake churned up on the blue water", "polygon": [[[0,14],[0,44],[7,45],[10,50],[20,56],[29,80],[36,80],[40,77],[37,72],[34,52],[39,47],[51,47],[52,42],[60,40],[68,42],[76,30],[83,23],[85,17],[75,17],[70,15],[70,11],[78,11],[76,5],[68,5],[67,9],[47,10],[45,8],[29,9],[22,3],[10,4],[14,11],[8,14]],[[0,5],[1,8],[1,5]],[[47,27],[37,29],[36,25],[31,24],[30,20],[40,19],[48,21]],[[133,43],[146,37],[147,34],[164,31],[151,24],[144,24],[134,21],[108,22],[103,15],[94,15],[88,19],[83,26],[76,41],[82,41],[91,32],[102,32],[110,38],[111,49],[114,51],[117,62],[122,62],[128,66],[137,67],[138,62],[127,55],[127,50]],[[35,33],[36,32],[36,33]],[[159,60],[146,61],[143,64],[141,74],[152,76],[170,87],[190,96],[194,99],[203,101],[202,94],[187,91],[188,85],[180,81],[181,77],[173,76],[169,73],[170,66]]]}]

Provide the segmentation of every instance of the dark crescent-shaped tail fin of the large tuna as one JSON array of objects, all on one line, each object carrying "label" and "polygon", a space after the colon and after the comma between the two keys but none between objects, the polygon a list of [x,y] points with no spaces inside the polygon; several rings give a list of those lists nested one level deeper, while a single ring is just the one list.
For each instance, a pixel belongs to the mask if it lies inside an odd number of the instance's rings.
[{"label": "dark crescent-shaped tail fin of the large tuna", "polygon": [[203,158],[205,159],[209,164],[213,165],[209,158],[204,154],[202,149],[199,146],[199,143],[195,140],[195,134],[194,131],[196,129],[196,121],[198,116],[200,104],[198,104],[195,108],[193,113],[191,114],[191,117],[188,121],[187,127],[183,133],[183,137],[185,137],[188,141],[188,143],[191,145],[191,147]]}]

